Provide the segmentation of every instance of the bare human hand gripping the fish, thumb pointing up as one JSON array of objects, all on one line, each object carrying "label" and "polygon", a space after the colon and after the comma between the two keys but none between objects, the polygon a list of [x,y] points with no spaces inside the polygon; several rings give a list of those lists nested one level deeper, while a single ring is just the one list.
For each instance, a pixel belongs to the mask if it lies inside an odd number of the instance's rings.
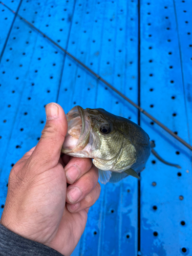
[{"label": "bare human hand gripping the fish, thumb pointing up", "polygon": [[56,103],[46,105],[46,115],[36,147],[11,170],[1,224],[68,256],[99,197],[98,170],[89,158],[60,156],[66,115]]}]

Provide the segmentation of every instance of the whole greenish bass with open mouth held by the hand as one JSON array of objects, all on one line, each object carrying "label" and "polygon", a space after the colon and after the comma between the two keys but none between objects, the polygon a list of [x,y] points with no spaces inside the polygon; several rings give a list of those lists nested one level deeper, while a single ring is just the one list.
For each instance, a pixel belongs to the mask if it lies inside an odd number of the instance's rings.
[{"label": "whole greenish bass with open mouth held by the hand", "polygon": [[74,106],[67,113],[68,132],[61,152],[92,158],[100,182],[116,183],[131,175],[136,178],[151,154],[148,134],[136,123],[104,109]]}]

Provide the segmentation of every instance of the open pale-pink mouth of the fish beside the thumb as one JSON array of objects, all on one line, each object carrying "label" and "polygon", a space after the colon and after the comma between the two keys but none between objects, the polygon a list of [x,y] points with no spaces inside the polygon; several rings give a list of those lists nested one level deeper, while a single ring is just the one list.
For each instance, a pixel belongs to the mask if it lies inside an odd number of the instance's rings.
[{"label": "open pale-pink mouth of the fish beside the thumb", "polygon": [[74,106],[66,115],[68,132],[62,145],[62,153],[76,153],[83,150],[89,142],[91,118],[81,106]]}]

